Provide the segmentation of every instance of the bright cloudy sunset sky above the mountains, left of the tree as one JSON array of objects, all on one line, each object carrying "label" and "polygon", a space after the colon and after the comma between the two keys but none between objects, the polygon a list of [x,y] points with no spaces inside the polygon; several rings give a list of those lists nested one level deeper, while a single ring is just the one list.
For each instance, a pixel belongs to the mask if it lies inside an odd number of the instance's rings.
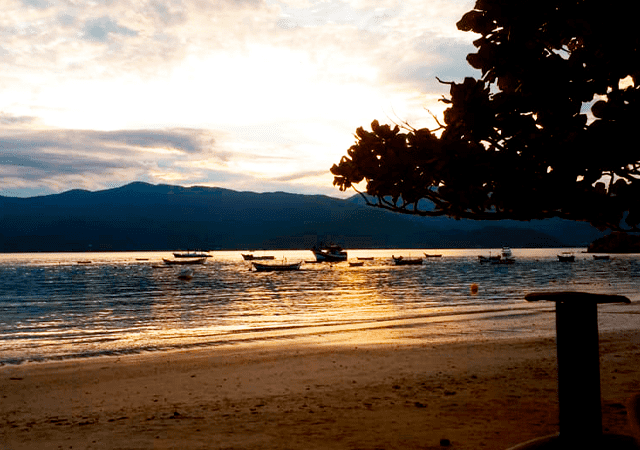
[{"label": "bright cloudy sunset sky above the mountains, left of the tree", "polygon": [[352,195],[380,123],[478,76],[462,0],[0,0],[0,195],[133,181]]}]

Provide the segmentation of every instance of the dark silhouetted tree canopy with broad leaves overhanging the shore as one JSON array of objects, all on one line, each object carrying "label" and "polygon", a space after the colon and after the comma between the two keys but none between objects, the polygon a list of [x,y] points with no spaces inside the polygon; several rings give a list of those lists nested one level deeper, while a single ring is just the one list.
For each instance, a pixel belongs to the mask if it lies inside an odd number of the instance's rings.
[{"label": "dark silhouetted tree canopy with broad leaves overhanging the shore", "polygon": [[334,185],[409,214],[640,231],[639,22],[640,2],[477,0],[457,26],[480,35],[480,79],[443,81],[436,129],[358,128]]}]

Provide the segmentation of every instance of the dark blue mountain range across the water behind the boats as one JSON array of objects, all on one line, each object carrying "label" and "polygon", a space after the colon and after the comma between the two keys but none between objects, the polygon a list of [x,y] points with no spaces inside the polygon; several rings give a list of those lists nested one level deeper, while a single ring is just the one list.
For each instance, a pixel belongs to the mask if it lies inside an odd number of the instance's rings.
[{"label": "dark blue mountain range across the water behind the boats", "polygon": [[177,249],[578,247],[602,236],[586,223],[408,216],[284,192],[131,183],[102,191],[0,196],[0,252]]}]

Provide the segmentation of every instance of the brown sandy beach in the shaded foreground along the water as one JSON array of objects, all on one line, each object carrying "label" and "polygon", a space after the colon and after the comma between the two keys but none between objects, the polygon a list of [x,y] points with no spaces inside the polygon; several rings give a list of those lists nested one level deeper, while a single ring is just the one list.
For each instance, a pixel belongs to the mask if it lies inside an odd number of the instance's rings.
[{"label": "brown sandy beach in the shaded foreground along the water", "polygon": [[[601,333],[600,349],[605,431],[631,434],[640,331]],[[508,448],[558,431],[556,374],[554,339],[5,366],[0,448]]]}]

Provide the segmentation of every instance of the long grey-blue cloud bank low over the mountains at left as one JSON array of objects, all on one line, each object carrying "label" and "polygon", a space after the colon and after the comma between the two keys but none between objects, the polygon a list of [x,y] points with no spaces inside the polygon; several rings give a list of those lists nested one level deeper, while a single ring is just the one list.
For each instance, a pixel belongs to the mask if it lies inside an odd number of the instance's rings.
[{"label": "long grey-blue cloud bank low over the mountains at left", "polygon": [[228,155],[213,147],[212,133],[197,129],[5,130],[0,132],[0,184],[6,189],[21,179],[55,190],[68,176],[93,179],[98,186],[123,173],[153,179],[153,173],[179,173],[180,162],[194,156],[223,165]]}]

